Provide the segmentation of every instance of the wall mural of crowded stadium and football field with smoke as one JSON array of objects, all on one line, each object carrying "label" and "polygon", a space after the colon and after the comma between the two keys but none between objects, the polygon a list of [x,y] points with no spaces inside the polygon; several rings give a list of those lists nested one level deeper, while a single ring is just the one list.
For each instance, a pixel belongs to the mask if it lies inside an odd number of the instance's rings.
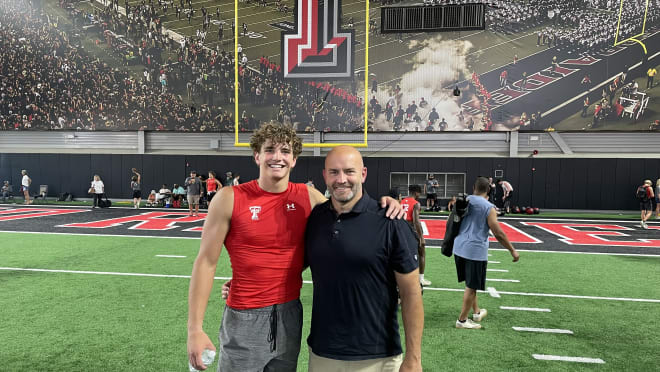
[{"label": "wall mural of crowded stadium and football field with smoke", "polygon": [[[659,127],[660,0],[338,1],[352,78],[287,80],[283,33],[314,1],[237,0],[238,22],[219,0],[2,2],[0,130]],[[474,3],[483,30],[381,32],[383,8]]]}]

